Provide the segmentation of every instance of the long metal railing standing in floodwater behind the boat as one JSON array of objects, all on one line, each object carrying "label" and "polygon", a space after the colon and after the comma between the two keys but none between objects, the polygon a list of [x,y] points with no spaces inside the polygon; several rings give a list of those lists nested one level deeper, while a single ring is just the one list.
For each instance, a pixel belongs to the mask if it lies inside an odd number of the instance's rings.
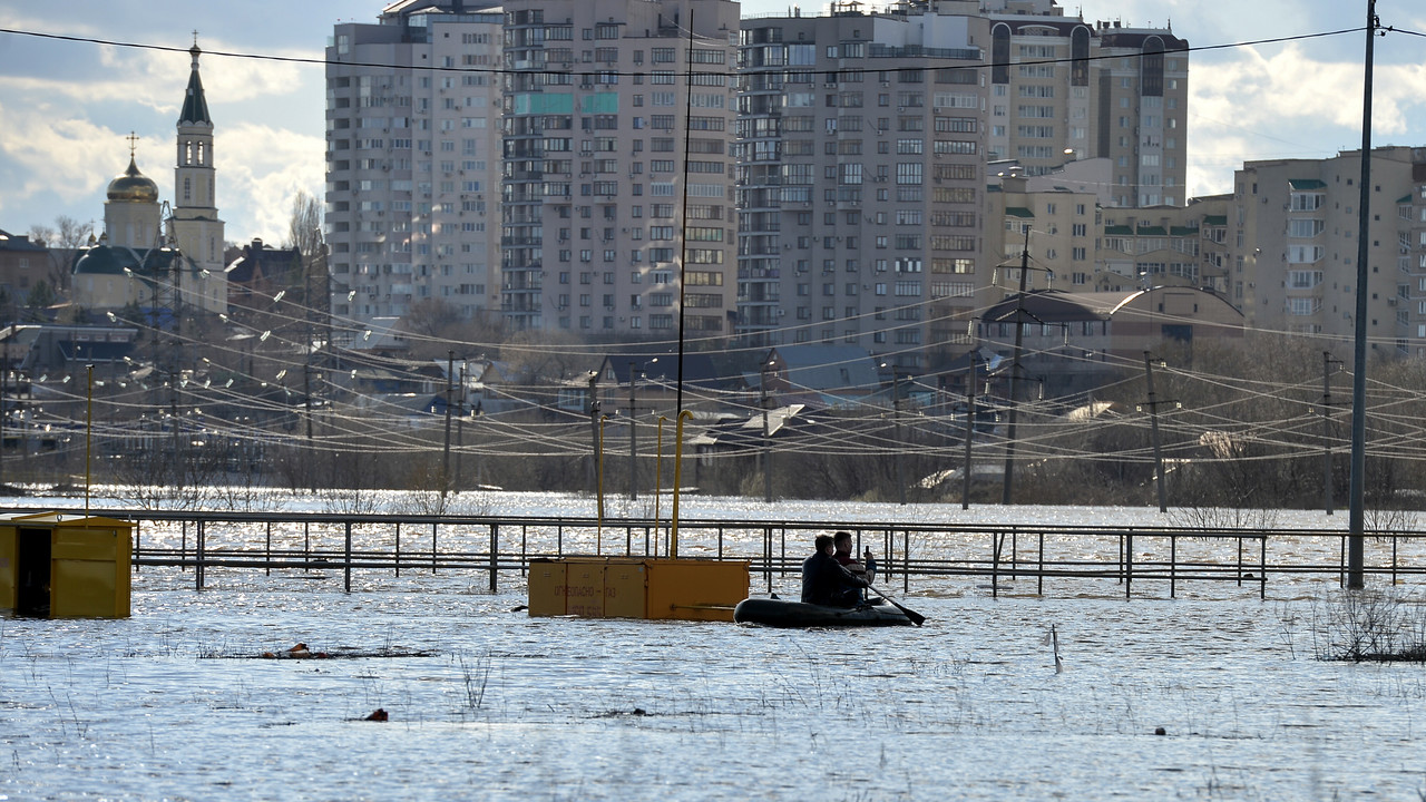
[{"label": "long metal railing standing in floodwater behind the boat", "polygon": [[[667,557],[666,521],[503,515],[371,515],[297,512],[201,512],[116,509],[135,521],[134,571],[180,568],[204,588],[207,571],[334,571],[345,589],[354,571],[466,571],[520,575],[532,559],[568,555]],[[754,584],[797,575],[816,534],[846,529],[857,554],[870,547],[880,582],[913,578],[988,579],[992,595],[1045,592],[1045,581],[1114,582],[1131,598],[1135,584],[1233,582],[1266,598],[1271,578],[1345,574],[1340,531],[1233,531],[1175,527],[985,527],[866,521],[684,519],[679,557],[740,559]],[[1426,532],[1378,532],[1369,539],[1366,572],[1392,584],[1426,574]]]}]

